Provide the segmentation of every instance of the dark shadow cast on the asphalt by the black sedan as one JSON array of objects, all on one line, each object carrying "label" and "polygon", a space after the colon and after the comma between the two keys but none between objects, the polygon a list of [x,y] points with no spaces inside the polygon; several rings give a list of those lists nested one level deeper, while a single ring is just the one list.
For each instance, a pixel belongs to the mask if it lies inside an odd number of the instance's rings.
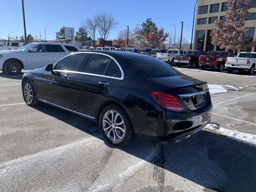
[{"label": "dark shadow cast on the asphalt by the black sedan", "polygon": [[[97,124],[90,120],[46,104],[34,108],[102,140]],[[256,188],[256,148],[205,130],[179,143],[135,137],[118,149],[153,164],[152,178],[159,185],[164,184],[165,174],[172,172],[183,177],[182,182],[190,180],[204,186],[204,191],[244,192]]]}]

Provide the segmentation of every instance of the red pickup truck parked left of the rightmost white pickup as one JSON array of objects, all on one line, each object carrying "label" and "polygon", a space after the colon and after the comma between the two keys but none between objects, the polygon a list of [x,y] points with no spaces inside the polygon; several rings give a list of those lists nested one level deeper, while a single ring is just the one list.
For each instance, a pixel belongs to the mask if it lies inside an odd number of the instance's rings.
[{"label": "red pickup truck parked left of the rightmost white pickup", "polygon": [[198,64],[202,70],[208,67],[217,67],[218,71],[223,71],[227,57],[233,57],[233,54],[228,51],[213,51],[210,55],[200,55]]}]

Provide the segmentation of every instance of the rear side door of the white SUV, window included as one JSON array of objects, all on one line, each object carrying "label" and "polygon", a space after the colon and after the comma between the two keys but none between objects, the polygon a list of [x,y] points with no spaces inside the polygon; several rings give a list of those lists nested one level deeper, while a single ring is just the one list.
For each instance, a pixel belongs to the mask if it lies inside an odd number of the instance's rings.
[{"label": "rear side door of the white SUV, window included", "polygon": [[49,63],[52,64],[70,54],[70,52],[65,52],[61,45],[48,44],[47,50],[49,52]]}]

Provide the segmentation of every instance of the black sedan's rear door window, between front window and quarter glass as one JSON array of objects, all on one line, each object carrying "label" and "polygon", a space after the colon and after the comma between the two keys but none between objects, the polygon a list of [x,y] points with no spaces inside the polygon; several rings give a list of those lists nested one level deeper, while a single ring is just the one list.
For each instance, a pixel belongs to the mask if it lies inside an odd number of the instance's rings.
[{"label": "black sedan's rear door window, between front window and quarter glass", "polygon": [[83,72],[104,75],[111,58],[101,54],[91,54],[86,62]]}]

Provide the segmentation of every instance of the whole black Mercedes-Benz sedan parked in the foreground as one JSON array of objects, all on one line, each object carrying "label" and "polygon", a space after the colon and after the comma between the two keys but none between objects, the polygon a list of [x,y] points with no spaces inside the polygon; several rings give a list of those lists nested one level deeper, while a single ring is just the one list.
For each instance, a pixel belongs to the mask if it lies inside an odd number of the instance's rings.
[{"label": "whole black Mercedes-Benz sedan parked in the foreground", "polygon": [[28,106],[46,103],[100,125],[113,145],[134,134],[182,141],[210,122],[212,102],[206,82],[182,74],[147,55],[85,51],[26,72]]}]

